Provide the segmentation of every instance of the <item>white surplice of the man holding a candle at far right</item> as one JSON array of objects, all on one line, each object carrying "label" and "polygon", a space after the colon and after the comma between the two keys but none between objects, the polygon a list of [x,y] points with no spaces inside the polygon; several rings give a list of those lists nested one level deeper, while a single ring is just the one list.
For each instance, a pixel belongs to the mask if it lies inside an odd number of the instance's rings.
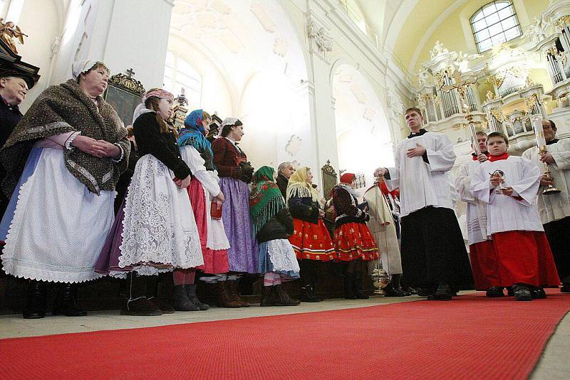
[{"label": "white surplice of the man holding a candle at far right", "polygon": [[[554,179],[554,186],[560,189],[560,194],[544,195],[544,186],[539,188],[538,209],[542,224],[570,216],[570,139],[560,139],[554,144],[547,146],[548,151],[554,158],[554,164],[550,164],[550,174]],[[539,149],[532,147],[527,149],[522,157],[531,160],[543,172],[544,163],[539,160]]]}]

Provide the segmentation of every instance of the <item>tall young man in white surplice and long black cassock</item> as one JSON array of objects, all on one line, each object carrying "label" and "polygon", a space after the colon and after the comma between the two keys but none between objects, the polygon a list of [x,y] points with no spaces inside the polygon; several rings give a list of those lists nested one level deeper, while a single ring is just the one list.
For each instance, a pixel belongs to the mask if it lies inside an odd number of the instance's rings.
[{"label": "tall young man in white surplice and long black cassock", "polygon": [[421,295],[451,300],[472,284],[467,250],[453,211],[448,172],[455,164],[445,134],[427,132],[418,108],[405,112],[410,135],[395,152],[395,167],[380,168],[386,186],[400,188],[401,255],[404,280]]}]

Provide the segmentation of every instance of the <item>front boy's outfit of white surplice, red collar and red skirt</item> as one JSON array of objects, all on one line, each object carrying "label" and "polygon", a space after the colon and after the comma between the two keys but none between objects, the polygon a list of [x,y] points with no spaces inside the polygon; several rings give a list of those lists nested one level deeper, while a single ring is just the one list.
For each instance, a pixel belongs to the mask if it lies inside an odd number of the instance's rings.
[{"label": "front boy's outfit of white surplice, red collar and red skirt", "polygon": [[[504,180],[501,186],[512,187],[512,196],[497,194],[498,187],[490,183],[489,173],[499,171]],[[497,255],[499,286],[559,285],[536,207],[539,176],[532,162],[507,153],[490,156],[473,174],[471,192],[487,204],[487,234]]]}]

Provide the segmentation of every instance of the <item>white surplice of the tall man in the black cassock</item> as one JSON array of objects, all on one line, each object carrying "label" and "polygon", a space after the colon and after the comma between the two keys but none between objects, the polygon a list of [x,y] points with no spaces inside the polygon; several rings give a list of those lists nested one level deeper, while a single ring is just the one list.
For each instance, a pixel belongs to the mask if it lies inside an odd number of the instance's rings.
[{"label": "white surplice of the tall man in the black cassock", "polygon": [[[425,147],[429,162],[423,157],[406,157],[408,149],[417,144]],[[388,168],[390,179],[385,183],[390,190],[400,188],[401,216],[427,206],[453,209],[448,171],[456,158],[450,139],[439,132],[427,132],[398,144],[395,167]]]}]

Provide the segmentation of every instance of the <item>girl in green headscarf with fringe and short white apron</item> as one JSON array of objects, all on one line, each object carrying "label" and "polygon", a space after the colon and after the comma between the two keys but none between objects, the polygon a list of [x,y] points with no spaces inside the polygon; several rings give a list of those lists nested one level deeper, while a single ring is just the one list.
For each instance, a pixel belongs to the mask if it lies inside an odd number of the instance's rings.
[{"label": "girl in green headscarf with fringe and short white apron", "polygon": [[293,218],[273,176],[273,168],[259,168],[249,194],[253,233],[259,242],[258,271],[264,273],[261,306],[295,306],[299,301],[292,300],[281,286],[299,278],[299,263],[287,240],[293,233]]}]

